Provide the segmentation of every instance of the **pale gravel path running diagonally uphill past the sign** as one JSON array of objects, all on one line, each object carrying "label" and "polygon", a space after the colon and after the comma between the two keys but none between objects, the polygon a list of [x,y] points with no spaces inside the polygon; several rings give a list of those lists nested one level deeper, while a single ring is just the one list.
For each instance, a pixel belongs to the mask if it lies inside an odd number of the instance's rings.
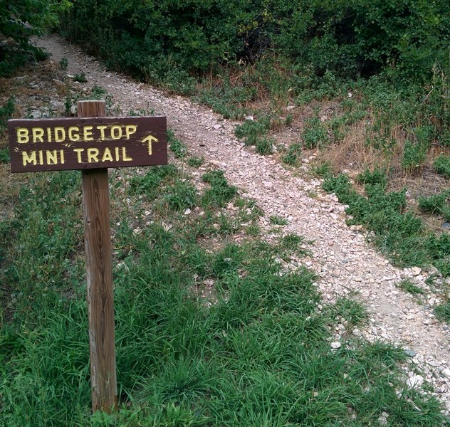
[{"label": "pale gravel path running diagonally uphill past the sign", "polygon": [[[429,296],[428,303],[419,305],[396,287],[403,278],[413,278],[427,288],[424,280],[429,274],[390,265],[365,242],[362,234],[346,226],[344,206],[320,190],[320,181],[295,177],[273,157],[263,157],[243,147],[234,137],[234,122],[183,97],[169,97],[150,86],[106,72],[94,58],[56,36],[38,41],[38,45],[51,52],[56,62],[66,57],[68,73],[85,73],[87,88],[96,84],[112,93],[123,114],[151,108],[155,114],[167,115],[169,126],[192,154],[204,156],[207,162],[224,171],[241,194],[256,199],[266,214],[263,221],[268,223],[272,215],[283,216],[288,219],[286,232],[313,240],[313,256],[307,265],[320,277],[318,286],[324,300],[359,292],[358,297],[370,310],[370,326],[353,333],[399,343],[409,349],[424,379],[432,381],[436,396],[450,410],[449,327],[434,318],[431,307],[436,303],[434,295]],[[412,376],[413,372],[407,374]]]}]

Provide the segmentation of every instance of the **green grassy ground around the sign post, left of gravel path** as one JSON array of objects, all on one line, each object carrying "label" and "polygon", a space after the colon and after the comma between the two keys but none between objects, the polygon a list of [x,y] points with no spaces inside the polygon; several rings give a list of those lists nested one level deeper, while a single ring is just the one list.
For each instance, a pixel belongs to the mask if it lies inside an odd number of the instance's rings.
[{"label": "green grassy ground around the sign post, left of gravel path", "polygon": [[111,416],[90,415],[80,175],[2,181],[1,425],[445,425],[427,384],[405,385],[402,349],[352,336],[363,307],[323,307],[310,270],[283,268],[302,236],[268,244],[257,206],[170,142],[177,162],[111,174]]}]

